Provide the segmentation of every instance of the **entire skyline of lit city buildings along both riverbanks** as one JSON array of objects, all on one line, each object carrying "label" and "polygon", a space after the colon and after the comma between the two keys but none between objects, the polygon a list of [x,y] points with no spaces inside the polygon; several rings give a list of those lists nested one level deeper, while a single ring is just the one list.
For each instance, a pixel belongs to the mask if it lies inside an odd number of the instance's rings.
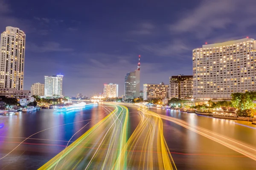
[{"label": "entire skyline of lit city buildings along both riverbanks", "polygon": [[[63,75],[45,76],[44,84],[34,83],[24,90],[26,34],[6,27],[0,38],[0,96],[34,100],[32,95],[62,96]],[[140,90],[140,56],[137,69],[125,76],[124,99],[230,99],[235,92],[256,91],[256,40],[244,38],[202,45],[192,50],[192,75],[169,77],[169,84],[144,84]],[[118,97],[118,85],[104,85],[104,97]],[[79,96],[80,97],[80,96]]]}]

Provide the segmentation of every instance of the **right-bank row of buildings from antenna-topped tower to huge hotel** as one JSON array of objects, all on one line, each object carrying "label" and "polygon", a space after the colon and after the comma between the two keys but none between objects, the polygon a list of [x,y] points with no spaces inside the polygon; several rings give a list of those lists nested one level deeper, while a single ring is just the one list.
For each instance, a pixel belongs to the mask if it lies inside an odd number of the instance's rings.
[{"label": "right-bank row of buildings from antenna-topped tower to huge hotel", "polygon": [[169,85],[140,86],[138,69],[125,76],[125,98],[194,99],[195,102],[231,99],[235,92],[256,91],[256,40],[244,38],[206,44],[192,51],[192,75],[169,77]]}]

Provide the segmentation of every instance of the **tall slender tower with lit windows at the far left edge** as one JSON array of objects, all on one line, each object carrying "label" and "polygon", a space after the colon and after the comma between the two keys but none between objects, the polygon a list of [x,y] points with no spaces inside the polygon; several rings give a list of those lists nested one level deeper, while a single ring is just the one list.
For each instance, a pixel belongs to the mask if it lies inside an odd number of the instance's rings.
[{"label": "tall slender tower with lit windows at the far left edge", "polygon": [[8,26],[1,34],[0,88],[23,90],[26,34]]}]

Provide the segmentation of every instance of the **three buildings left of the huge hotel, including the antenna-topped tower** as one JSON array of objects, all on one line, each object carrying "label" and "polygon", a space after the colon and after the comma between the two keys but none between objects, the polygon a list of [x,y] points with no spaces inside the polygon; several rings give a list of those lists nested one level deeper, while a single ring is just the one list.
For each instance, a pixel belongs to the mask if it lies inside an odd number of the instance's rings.
[{"label": "three buildings left of the huge hotel, including the antenna-topped tower", "polygon": [[140,56],[137,70],[129,72],[125,76],[125,99],[136,97],[144,100],[161,99],[167,101],[172,97],[179,99],[192,99],[193,97],[193,76],[172,76],[169,77],[169,85],[163,82],[160,84],[144,84],[143,91],[140,91]]}]

